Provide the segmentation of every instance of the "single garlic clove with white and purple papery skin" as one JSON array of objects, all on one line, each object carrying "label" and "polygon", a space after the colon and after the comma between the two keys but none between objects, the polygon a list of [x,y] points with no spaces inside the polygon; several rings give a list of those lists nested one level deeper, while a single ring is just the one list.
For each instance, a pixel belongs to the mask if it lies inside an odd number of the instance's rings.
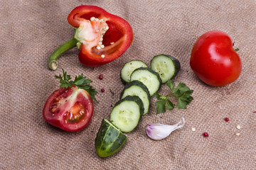
[{"label": "single garlic clove with white and purple papery skin", "polygon": [[171,132],[176,129],[182,128],[185,125],[185,120],[182,118],[182,121],[178,122],[176,125],[164,125],[164,124],[148,124],[146,128],[146,134],[152,140],[162,140],[168,137]]}]

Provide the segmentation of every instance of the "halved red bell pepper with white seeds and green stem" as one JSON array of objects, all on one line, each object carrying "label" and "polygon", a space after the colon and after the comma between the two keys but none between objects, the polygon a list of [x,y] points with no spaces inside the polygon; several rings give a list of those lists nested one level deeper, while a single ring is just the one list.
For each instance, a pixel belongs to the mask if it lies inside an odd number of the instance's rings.
[{"label": "halved red bell pepper with white seeds and green stem", "polygon": [[119,16],[97,6],[78,6],[68,16],[75,36],[60,45],[48,60],[50,69],[57,69],[63,52],[78,46],[79,60],[87,67],[98,67],[120,57],[132,44],[132,27]]}]

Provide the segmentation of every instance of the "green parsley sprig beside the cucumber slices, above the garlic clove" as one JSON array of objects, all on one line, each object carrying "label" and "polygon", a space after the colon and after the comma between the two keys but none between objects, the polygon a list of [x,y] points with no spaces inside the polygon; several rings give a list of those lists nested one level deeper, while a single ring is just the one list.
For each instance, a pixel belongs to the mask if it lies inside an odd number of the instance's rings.
[{"label": "green parsley sprig beside the cucumber slices, above the garlic clove", "polygon": [[158,93],[154,94],[154,96],[158,99],[158,101],[155,103],[156,114],[165,113],[166,108],[169,110],[174,109],[174,103],[169,100],[170,97],[178,98],[177,108],[186,109],[186,106],[193,100],[193,97],[191,96],[191,94],[193,94],[193,90],[189,89],[188,86],[183,83],[179,83],[175,88],[174,81],[171,79],[167,81],[166,85],[171,89],[170,94],[166,96]]}]

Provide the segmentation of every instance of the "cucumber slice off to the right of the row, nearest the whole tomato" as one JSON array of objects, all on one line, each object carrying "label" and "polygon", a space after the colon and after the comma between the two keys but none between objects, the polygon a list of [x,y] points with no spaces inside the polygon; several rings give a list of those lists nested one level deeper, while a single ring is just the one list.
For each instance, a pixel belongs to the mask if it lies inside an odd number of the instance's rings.
[{"label": "cucumber slice off to the right of the row, nearest the whole tomato", "polygon": [[176,76],[181,69],[181,64],[171,55],[156,55],[151,60],[150,67],[159,74],[162,83],[166,83]]}]

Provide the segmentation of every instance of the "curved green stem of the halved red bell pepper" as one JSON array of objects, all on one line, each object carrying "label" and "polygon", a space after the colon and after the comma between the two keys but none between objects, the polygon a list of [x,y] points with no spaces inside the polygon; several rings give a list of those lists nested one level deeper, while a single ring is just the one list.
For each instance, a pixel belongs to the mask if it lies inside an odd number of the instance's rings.
[{"label": "curved green stem of the halved red bell pepper", "polygon": [[60,55],[63,54],[63,52],[70,50],[71,48],[75,47],[77,44],[78,40],[75,40],[75,38],[72,38],[71,40],[68,40],[65,42],[63,45],[60,45],[52,55],[50,55],[48,59],[48,67],[50,69],[57,69],[58,68],[58,62],[57,59],[60,57]]}]

